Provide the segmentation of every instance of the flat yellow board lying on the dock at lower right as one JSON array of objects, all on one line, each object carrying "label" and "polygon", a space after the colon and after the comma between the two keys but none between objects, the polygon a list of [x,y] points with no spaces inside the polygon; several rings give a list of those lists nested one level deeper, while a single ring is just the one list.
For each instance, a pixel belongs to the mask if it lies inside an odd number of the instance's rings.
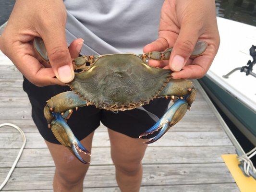
[{"label": "flat yellow board lying on the dock at lower right", "polygon": [[239,161],[236,154],[221,156],[232,174],[241,192],[256,192],[256,180],[253,177],[245,177],[242,170],[238,167]]}]

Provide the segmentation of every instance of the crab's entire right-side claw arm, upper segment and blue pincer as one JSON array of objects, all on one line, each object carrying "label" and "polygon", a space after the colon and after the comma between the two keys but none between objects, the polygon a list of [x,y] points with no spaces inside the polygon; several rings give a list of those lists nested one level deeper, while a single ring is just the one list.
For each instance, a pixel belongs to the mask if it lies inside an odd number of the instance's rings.
[{"label": "crab's entire right-side claw arm, upper segment and blue pincer", "polygon": [[158,96],[171,96],[175,102],[155,125],[139,136],[139,138],[142,138],[160,130],[153,139],[145,142],[146,144],[151,144],[160,139],[173,125],[183,118],[187,109],[190,108],[195,100],[196,91],[190,81],[171,80]]}]

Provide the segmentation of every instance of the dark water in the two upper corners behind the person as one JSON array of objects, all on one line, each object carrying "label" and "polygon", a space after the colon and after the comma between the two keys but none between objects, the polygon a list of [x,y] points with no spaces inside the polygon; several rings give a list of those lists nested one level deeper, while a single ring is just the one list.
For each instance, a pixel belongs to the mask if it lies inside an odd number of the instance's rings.
[{"label": "dark water in the two upper corners behind the person", "polygon": [[[15,0],[0,0],[0,25],[5,23]],[[215,0],[219,17],[256,26],[256,0]]]}]

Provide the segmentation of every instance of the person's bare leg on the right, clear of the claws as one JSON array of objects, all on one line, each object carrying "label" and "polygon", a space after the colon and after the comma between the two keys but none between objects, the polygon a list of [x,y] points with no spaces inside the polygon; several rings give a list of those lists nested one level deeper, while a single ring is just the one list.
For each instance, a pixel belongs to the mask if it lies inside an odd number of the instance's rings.
[{"label": "person's bare leg on the right, clear of the claws", "polygon": [[142,180],[142,159],[146,151],[145,139],[134,139],[108,130],[111,157],[116,167],[116,180],[122,192],[139,192]]}]

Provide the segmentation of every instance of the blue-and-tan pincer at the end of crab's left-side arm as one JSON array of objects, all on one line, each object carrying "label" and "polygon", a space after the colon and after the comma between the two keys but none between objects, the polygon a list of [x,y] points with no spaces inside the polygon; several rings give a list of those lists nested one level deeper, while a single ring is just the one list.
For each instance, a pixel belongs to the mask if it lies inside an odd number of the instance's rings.
[{"label": "blue-and-tan pincer at the end of crab's left-side arm", "polygon": [[51,121],[50,127],[58,141],[65,147],[67,147],[79,161],[85,164],[89,164],[89,162],[86,162],[79,155],[77,150],[89,156],[91,155],[90,152],[85,149],[85,147],[74,136],[72,130],[61,116],[61,113],[52,113],[52,115],[55,119]]}]

